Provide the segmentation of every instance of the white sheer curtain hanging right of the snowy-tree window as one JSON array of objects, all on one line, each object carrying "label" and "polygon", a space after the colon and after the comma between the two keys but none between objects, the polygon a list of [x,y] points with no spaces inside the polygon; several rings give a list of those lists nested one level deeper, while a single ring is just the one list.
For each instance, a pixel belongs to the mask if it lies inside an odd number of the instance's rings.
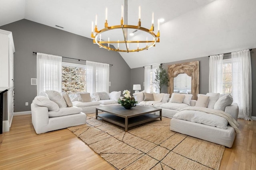
[{"label": "white sheer curtain hanging right of the snowy-tree window", "polygon": [[86,61],[87,92],[109,92],[109,64]]}]

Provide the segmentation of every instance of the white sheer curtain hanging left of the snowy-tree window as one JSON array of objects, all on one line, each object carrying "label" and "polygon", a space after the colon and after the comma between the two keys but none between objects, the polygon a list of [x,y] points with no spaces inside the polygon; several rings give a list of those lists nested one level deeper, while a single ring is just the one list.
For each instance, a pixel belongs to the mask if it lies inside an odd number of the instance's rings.
[{"label": "white sheer curtain hanging left of the snowy-tree window", "polygon": [[62,57],[37,53],[37,95],[46,90],[61,92]]}]

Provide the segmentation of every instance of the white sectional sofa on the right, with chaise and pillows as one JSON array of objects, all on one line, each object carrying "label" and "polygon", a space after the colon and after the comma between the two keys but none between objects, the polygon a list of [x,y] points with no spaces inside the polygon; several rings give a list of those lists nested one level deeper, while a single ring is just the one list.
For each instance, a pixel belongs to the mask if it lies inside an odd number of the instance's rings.
[{"label": "white sectional sofa on the right, with chaise and pillows", "polygon": [[[136,100],[142,100],[142,94],[143,92],[140,92],[140,94],[135,93],[133,95],[135,99],[137,98]],[[184,96],[183,98],[180,98],[179,95]],[[236,103],[232,103],[232,96],[218,93],[207,93],[206,95],[199,94],[198,100],[196,101],[191,100],[192,96],[190,97],[190,95],[191,94],[172,94],[167,102],[140,101],[139,104],[162,108],[162,115],[172,118],[170,122],[170,130],[172,131],[224,145],[226,147],[232,147],[236,133],[239,133],[237,127],[231,127],[230,123],[223,117],[212,115],[212,113],[205,113],[202,111],[204,109],[199,111],[199,113],[194,110],[186,110],[188,108],[206,108],[206,110],[210,110],[210,112],[223,111],[225,114],[228,114],[227,116],[230,117],[229,119],[233,119],[233,121],[237,123],[239,109]],[[190,106],[196,107],[193,108]],[[216,121],[214,121],[214,119],[216,119]]]}]

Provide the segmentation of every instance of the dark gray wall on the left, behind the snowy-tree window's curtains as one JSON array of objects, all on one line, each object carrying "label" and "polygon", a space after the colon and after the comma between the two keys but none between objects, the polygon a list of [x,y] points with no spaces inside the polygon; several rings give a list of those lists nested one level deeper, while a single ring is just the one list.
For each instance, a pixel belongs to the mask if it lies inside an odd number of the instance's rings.
[{"label": "dark gray wall on the left, behind the snowy-tree window's curtains", "polygon": [[[36,78],[36,55],[32,52],[47,53],[71,57],[110,66],[109,91],[123,91],[130,88],[130,67],[114,51],[99,48],[92,39],[29,20],[20,20],[3,25],[0,29],[12,31],[14,46],[14,111],[30,111],[30,104],[36,96],[36,86],[30,85],[30,79]],[[83,61],[63,59],[64,62]],[[25,106],[25,102],[29,106]]]}]

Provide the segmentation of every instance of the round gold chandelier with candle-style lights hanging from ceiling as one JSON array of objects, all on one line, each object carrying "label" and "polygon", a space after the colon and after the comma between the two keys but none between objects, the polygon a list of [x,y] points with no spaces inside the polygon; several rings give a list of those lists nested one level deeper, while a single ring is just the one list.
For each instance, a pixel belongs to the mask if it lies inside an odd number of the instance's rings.
[{"label": "round gold chandelier with candle-style lights hanging from ceiling", "polygon": [[[118,51],[118,52],[139,52],[142,50],[147,50],[150,47],[154,47],[156,43],[160,42],[160,31],[159,31],[159,20],[158,20],[158,32],[157,34],[154,33],[154,13],[152,13],[152,25],[150,29],[141,27],[141,8],[139,6],[139,13],[138,13],[138,25],[128,25],[127,24],[127,0],[124,0],[124,6],[121,6],[121,23],[120,25],[114,25],[114,26],[108,26],[108,8],[106,8],[106,18],[105,18],[105,27],[101,30],[98,30],[97,28],[97,15],[96,15],[96,20],[95,20],[95,26],[92,21],[92,33],[91,37],[93,39],[94,44],[98,44],[99,47],[112,50],[112,51]],[[108,41],[104,41],[102,39],[103,33],[111,31],[111,35],[115,34],[117,29],[122,30],[122,40],[119,41],[119,39],[110,41],[110,37],[108,37]],[[114,32],[113,32],[114,30]],[[134,31],[133,31],[134,30]],[[142,34],[142,37],[138,38],[137,40],[130,41],[128,40],[128,31],[134,33],[136,31],[140,31]],[[148,36],[152,37],[152,41],[148,41]],[[132,39],[132,38],[131,38]],[[137,44],[137,47],[134,47],[134,43]],[[117,44],[117,49],[116,48],[111,48],[110,44]],[[129,49],[129,44],[130,47],[133,45],[132,48]],[[121,46],[121,47],[120,47]]]}]

